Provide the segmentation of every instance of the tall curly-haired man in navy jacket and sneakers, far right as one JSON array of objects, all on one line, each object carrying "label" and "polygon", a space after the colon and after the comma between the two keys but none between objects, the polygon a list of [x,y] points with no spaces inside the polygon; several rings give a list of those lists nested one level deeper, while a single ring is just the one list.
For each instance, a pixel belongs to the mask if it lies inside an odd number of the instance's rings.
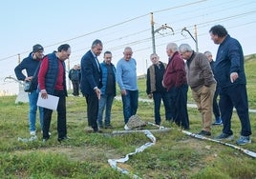
[{"label": "tall curly-haired man in navy jacket and sneakers, far right", "polygon": [[251,143],[251,127],[248,113],[246,91],[245,59],[239,41],[232,38],[222,25],[216,25],[209,30],[211,39],[219,48],[214,66],[215,78],[220,89],[220,109],[224,129],[216,137],[218,140],[232,139],[231,117],[233,108],[237,110],[241,122],[241,136],[238,145]]}]

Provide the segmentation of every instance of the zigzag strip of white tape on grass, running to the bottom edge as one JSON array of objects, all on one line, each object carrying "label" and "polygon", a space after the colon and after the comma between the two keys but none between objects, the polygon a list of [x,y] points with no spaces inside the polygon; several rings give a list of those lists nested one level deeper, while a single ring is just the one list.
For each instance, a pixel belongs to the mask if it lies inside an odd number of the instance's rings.
[{"label": "zigzag strip of white tape on grass, running to the bottom edge", "polygon": [[[148,129],[145,129],[145,130],[140,130],[140,131],[143,131],[144,134],[152,141],[152,142],[148,142],[142,146],[140,146],[138,149],[136,149],[134,152],[132,153],[128,153],[125,155],[125,157],[123,158],[119,158],[119,159],[109,159],[108,160],[108,163],[110,164],[110,166],[113,168],[113,169],[117,169],[118,171],[120,171],[121,173],[123,174],[128,174],[129,175],[129,171],[127,169],[121,169],[121,168],[118,168],[117,167],[117,163],[125,163],[126,161],[129,160],[129,156],[131,155],[135,155],[136,153],[139,153],[139,152],[142,152],[144,149],[147,149],[153,145],[156,144],[156,137],[148,130]],[[133,174],[133,178],[139,178],[139,176]]]}]

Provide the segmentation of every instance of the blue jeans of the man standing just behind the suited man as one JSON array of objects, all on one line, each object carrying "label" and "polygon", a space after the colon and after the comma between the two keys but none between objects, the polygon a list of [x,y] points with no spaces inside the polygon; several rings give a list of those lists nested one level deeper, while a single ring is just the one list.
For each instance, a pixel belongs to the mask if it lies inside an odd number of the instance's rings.
[{"label": "blue jeans of the man standing just behind the suited man", "polygon": [[105,110],[105,126],[110,126],[110,115],[111,115],[111,109],[112,109],[112,104],[113,104],[113,100],[114,100],[114,95],[101,95],[100,96],[100,100],[99,100],[99,104],[98,104],[98,112],[97,112],[97,124],[98,126],[102,127],[103,126],[103,122],[102,122],[102,118],[103,118],[103,112],[104,109],[106,107]]}]

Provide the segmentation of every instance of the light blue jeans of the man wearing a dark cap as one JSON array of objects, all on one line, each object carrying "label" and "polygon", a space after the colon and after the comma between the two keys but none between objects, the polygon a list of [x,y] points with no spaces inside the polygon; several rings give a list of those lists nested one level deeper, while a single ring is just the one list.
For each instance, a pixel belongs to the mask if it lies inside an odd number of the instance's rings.
[{"label": "light blue jeans of the man wearing a dark cap", "polygon": [[[36,90],[32,90],[32,92],[28,93],[29,101],[30,101],[30,113],[29,113],[29,124],[30,124],[30,131],[35,131],[35,119],[36,119],[36,110],[37,110],[37,99],[38,99],[38,92]],[[43,115],[44,109],[39,107],[39,119],[40,119],[40,128],[43,129]]]}]

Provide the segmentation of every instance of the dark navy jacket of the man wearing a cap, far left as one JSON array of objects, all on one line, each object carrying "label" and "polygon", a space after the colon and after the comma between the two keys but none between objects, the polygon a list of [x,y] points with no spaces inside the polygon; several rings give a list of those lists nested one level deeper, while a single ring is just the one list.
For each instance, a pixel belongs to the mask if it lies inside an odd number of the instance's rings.
[{"label": "dark navy jacket of the man wearing a cap, far left", "polygon": [[14,69],[15,75],[18,80],[24,81],[26,76],[22,73],[22,70],[26,70],[28,77],[34,76],[32,80],[32,90],[37,89],[38,81],[37,81],[37,75],[35,73],[35,70],[38,72],[40,61],[34,60],[32,58],[32,52],[29,54],[28,57],[24,58],[21,63]]}]

